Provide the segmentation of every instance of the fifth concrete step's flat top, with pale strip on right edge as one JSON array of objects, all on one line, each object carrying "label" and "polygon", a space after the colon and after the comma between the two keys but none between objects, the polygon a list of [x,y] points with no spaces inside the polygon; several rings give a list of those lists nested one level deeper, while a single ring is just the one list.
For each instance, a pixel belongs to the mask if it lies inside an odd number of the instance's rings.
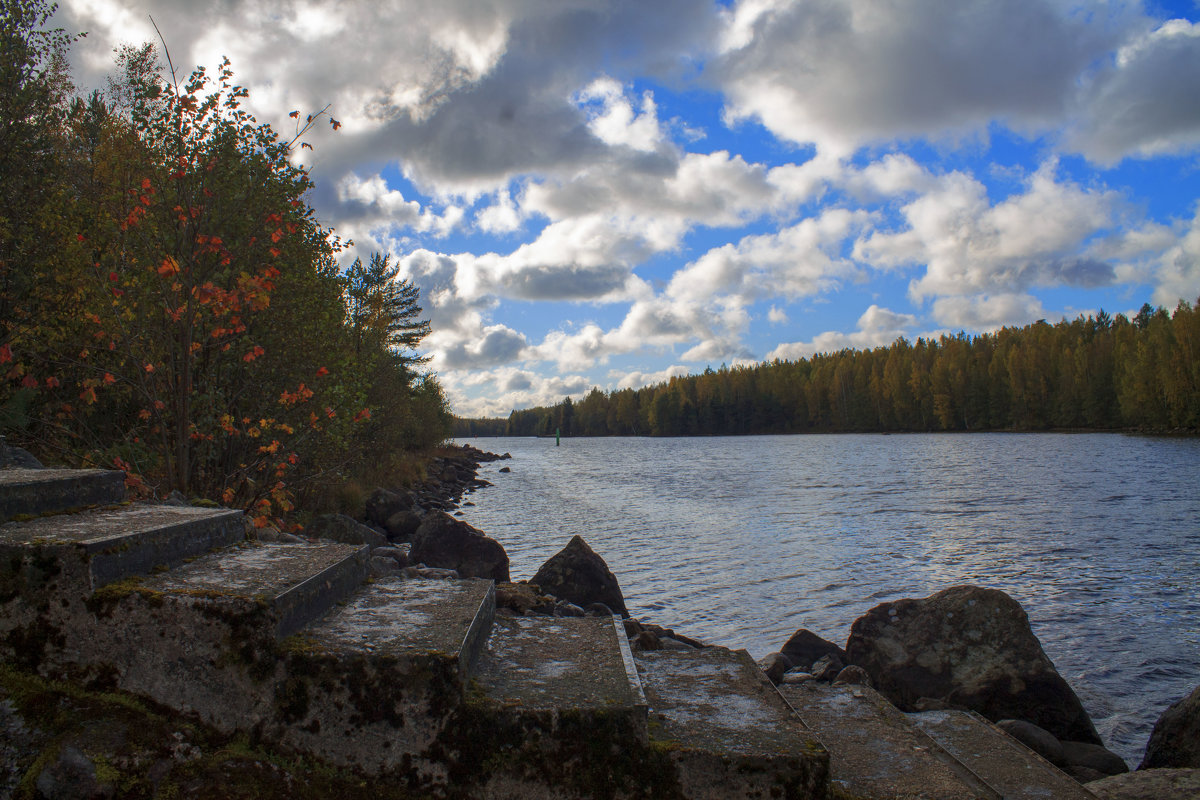
[{"label": "fifth concrete step's flat top, with pale strip on right edge", "polygon": [[499,616],[475,679],[490,698],[504,705],[625,708],[644,718],[644,702],[636,676],[625,668],[623,643],[610,616]]}]

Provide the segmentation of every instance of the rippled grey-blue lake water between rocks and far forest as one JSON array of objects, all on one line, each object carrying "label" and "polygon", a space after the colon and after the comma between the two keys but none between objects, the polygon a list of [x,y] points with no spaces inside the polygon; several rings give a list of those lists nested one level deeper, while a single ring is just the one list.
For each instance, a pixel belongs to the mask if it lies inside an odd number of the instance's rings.
[{"label": "rippled grey-blue lake water between rocks and far forest", "polygon": [[[1118,434],[472,439],[466,519],[529,578],[575,534],[634,616],[756,658],[971,583],[1026,609],[1132,765],[1200,684],[1200,439]],[[502,467],[511,474],[499,474]]]}]

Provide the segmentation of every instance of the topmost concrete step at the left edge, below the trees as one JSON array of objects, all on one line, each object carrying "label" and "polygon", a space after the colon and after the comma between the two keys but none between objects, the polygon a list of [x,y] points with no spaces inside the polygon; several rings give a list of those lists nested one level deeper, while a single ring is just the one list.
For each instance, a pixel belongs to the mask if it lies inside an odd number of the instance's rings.
[{"label": "topmost concrete step at the left edge, below the trees", "polygon": [[125,500],[125,473],[107,469],[0,469],[0,522]]}]

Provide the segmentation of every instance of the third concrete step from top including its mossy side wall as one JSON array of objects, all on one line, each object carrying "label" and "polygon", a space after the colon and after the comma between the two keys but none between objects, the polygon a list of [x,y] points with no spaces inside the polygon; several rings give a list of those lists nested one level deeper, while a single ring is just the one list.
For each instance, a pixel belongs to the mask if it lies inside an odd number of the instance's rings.
[{"label": "third concrete step from top including its mossy side wall", "polygon": [[276,717],[280,637],[348,596],[368,557],[365,545],[244,542],[109,583],[50,620],[59,646],[43,672],[115,684],[223,732],[260,728]]}]

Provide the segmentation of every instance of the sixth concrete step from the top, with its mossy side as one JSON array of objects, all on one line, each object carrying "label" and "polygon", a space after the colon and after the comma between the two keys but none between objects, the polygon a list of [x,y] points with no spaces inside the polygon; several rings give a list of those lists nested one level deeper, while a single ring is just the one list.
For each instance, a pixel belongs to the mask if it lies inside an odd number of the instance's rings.
[{"label": "sixth concrete step from the top, with its mossy side", "polygon": [[635,656],[652,745],[686,798],[826,798],[829,757],[745,650]]}]

